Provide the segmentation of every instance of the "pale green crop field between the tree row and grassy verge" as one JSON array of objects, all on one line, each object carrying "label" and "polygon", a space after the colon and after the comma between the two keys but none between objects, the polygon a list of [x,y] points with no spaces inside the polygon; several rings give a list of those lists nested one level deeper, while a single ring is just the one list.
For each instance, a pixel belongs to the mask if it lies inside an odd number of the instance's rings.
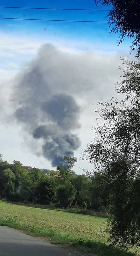
[{"label": "pale green crop field between the tree row and grassy verge", "polygon": [[105,242],[106,219],[69,212],[60,212],[0,202],[0,219],[19,224],[59,231],[75,238],[94,238]]}]

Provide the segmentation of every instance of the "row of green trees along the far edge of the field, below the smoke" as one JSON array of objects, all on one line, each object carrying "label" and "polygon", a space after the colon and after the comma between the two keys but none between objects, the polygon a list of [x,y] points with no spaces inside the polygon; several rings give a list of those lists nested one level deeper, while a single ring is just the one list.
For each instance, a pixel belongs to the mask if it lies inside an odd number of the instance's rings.
[{"label": "row of green trees along the far edge of the field, below the smoke", "polygon": [[64,157],[64,166],[46,174],[37,168],[24,169],[19,161],[9,164],[0,160],[0,196],[8,201],[33,202],[68,208],[99,210],[102,207],[96,193],[96,177],[89,179],[72,170],[75,157]]}]

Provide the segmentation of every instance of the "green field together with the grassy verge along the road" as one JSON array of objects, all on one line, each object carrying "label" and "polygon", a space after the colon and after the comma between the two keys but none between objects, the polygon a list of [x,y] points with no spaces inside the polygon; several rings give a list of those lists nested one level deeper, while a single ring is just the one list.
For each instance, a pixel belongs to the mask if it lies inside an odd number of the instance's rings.
[{"label": "green field together with the grassy verge along the road", "polygon": [[0,224],[47,237],[52,243],[71,245],[97,255],[133,255],[107,245],[107,219],[0,201]]}]

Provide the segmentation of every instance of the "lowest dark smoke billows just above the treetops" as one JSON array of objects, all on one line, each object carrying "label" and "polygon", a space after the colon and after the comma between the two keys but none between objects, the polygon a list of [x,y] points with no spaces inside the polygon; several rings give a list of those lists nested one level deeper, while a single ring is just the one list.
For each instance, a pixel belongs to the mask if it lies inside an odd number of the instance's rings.
[{"label": "lowest dark smoke billows just above the treetops", "polygon": [[56,132],[56,127],[42,125],[37,127],[33,132],[34,138],[43,138],[46,143],[42,146],[43,156],[51,161],[52,166],[62,164],[64,156],[73,156],[74,150],[77,150],[81,141],[76,134],[66,133],[63,130]]}]

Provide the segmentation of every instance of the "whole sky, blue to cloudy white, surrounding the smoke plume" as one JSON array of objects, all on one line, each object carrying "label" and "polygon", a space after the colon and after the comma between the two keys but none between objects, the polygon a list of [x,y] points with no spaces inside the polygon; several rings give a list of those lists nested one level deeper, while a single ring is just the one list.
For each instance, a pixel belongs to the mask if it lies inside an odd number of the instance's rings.
[{"label": "whole sky, blue to cloudy white, surrounding the smoke plume", "polygon": [[[1,0],[1,6],[17,7],[46,7],[46,8],[78,8],[78,9],[107,9],[101,5],[95,6],[93,0],[50,0],[50,1],[11,1]],[[59,19],[59,20],[98,20],[105,21],[108,12],[91,11],[54,11],[0,8],[0,17]],[[81,148],[85,148],[93,137],[91,127],[95,124],[94,109],[97,100],[109,100],[114,96],[115,83],[119,79],[117,71],[120,56],[129,55],[130,40],[117,46],[119,35],[110,35],[107,23],[74,23],[28,20],[0,20],[0,140],[1,153],[9,162],[19,160],[24,165],[40,168],[51,168],[45,158],[32,154],[25,145],[20,126],[12,118],[11,95],[18,72],[22,72],[37,55],[43,44],[55,45],[62,54],[67,53],[75,58],[85,54],[87,77],[85,81],[92,89],[86,90],[79,97],[71,92],[80,105],[81,129],[78,134],[82,140]],[[75,55],[77,54],[77,55]],[[134,54],[133,54],[134,55]],[[133,55],[131,56],[133,58]],[[55,66],[55,62],[54,62]],[[58,67],[55,67],[59,69]],[[90,70],[90,71],[89,71]],[[59,70],[58,70],[59,71]],[[82,76],[82,70],[79,68]],[[63,74],[65,76],[65,74]],[[64,77],[65,78],[65,77]],[[60,79],[60,77],[58,78]],[[84,79],[84,78],[83,78]],[[67,79],[66,79],[67,80]],[[79,79],[80,80],[80,79]],[[70,81],[71,82],[71,81]],[[67,84],[67,87],[69,85]],[[79,90],[77,85],[77,90]],[[68,89],[67,89],[68,90]],[[68,91],[69,92],[69,91]],[[73,94],[72,94],[73,93]],[[3,102],[3,104],[1,103]],[[4,107],[3,107],[4,106]],[[4,110],[3,110],[4,109]],[[30,141],[29,143],[30,144]],[[81,173],[81,167],[92,168],[80,160],[81,148],[75,153],[78,158],[76,172]],[[55,169],[55,168],[54,168]]]}]

